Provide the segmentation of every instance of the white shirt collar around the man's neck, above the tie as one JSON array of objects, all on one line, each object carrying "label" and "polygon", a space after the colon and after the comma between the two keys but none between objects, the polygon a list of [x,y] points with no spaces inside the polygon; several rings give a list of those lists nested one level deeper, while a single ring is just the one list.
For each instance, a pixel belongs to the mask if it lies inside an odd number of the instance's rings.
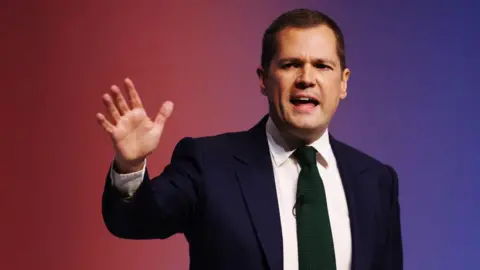
[{"label": "white shirt collar around the man's neck, above the tie", "polygon": [[[270,117],[267,120],[266,132],[270,154],[272,155],[275,166],[279,167],[290,158],[293,152],[295,152],[295,149],[288,148],[285,140],[280,136],[278,128]],[[334,155],[330,145],[328,128],[320,138],[309,145],[317,150],[317,157],[319,156],[321,158],[320,163],[324,167],[327,167],[334,162]]]}]

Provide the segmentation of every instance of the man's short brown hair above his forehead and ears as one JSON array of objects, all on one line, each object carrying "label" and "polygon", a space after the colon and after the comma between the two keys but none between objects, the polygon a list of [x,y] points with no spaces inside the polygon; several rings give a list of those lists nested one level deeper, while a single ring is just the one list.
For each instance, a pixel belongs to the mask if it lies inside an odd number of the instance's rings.
[{"label": "man's short brown hair above his forehead and ears", "polygon": [[277,33],[285,28],[310,28],[320,25],[326,25],[335,34],[337,40],[337,55],[340,59],[342,70],[346,68],[345,41],[342,31],[337,23],[326,14],[311,9],[294,9],[281,14],[265,30],[262,41],[261,65],[265,71],[268,70],[277,51]]}]

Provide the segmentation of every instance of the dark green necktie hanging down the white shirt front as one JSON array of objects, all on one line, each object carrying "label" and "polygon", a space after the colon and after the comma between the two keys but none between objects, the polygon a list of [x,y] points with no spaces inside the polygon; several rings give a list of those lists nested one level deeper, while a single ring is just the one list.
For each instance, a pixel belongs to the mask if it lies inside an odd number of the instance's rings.
[{"label": "dark green necktie hanging down the white shirt front", "polygon": [[301,167],[295,208],[298,269],[335,270],[332,231],[316,154],[311,146],[299,148],[294,154]]}]

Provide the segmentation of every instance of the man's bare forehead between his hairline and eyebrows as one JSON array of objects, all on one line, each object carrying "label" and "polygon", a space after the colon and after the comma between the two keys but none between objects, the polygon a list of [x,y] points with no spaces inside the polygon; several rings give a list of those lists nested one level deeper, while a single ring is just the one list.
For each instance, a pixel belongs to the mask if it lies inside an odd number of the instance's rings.
[{"label": "man's bare forehead between his hairline and eyebrows", "polygon": [[330,58],[338,61],[334,32],[325,25],[286,28],[277,34],[277,58]]}]

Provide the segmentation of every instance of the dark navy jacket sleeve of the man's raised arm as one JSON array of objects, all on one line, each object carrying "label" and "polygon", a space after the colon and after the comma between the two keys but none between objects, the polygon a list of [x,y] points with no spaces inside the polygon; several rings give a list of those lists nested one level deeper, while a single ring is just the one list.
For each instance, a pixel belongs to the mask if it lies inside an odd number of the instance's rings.
[{"label": "dark navy jacket sleeve of the man's raised arm", "polygon": [[125,239],[165,239],[185,231],[201,185],[195,142],[192,138],[180,140],[164,171],[151,179],[146,169],[142,183],[130,197],[112,185],[107,174],[102,216],[110,233]]}]

